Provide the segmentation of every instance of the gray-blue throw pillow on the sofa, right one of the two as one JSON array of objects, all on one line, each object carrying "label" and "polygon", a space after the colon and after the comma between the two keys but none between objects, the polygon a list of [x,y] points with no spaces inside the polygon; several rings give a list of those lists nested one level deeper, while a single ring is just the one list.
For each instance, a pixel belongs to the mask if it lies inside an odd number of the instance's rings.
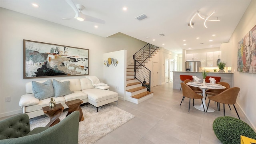
[{"label": "gray-blue throw pillow on the sofa, right one of the two", "polygon": [[53,88],[55,97],[60,97],[74,93],[74,91],[70,91],[70,81],[60,82],[53,79]]}]

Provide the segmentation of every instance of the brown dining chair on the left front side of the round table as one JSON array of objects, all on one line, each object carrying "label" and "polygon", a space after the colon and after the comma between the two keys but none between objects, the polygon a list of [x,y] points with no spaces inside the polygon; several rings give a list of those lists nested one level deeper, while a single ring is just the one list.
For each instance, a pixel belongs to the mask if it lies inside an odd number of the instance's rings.
[{"label": "brown dining chair on the left front side of the round table", "polygon": [[[188,112],[190,110],[190,99],[201,99],[202,104],[203,104],[203,96],[202,95],[198,95],[197,93],[195,93],[188,85],[186,85],[185,83],[180,83],[181,87],[182,87],[182,94],[183,94],[183,98],[180,102],[180,106],[182,101],[185,99],[185,97],[189,98],[189,105],[188,105]],[[203,104],[204,107],[204,104]],[[205,110],[204,110],[205,112]]]}]

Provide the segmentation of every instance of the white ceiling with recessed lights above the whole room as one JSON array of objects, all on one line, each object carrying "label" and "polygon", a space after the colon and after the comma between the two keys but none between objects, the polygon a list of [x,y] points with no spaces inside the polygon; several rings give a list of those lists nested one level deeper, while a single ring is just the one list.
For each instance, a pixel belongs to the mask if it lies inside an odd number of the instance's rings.
[{"label": "white ceiling with recessed lights above the whole room", "polygon": [[[220,47],[221,43],[228,42],[250,0],[73,0],[73,2],[85,6],[83,14],[105,20],[106,24],[81,22],[76,19],[61,20],[61,18],[73,18],[75,15],[74,10],[65,0],[0,0],[0,7],[102,37],[121,32],[170,51],[182,53],[182,49],[203,49],[209,48],[210,45]],[[32,3],[38,4],[39,8],[33,7]],[[128,10],[122,10],[123,7]],[[204,18],[216,11],[209,19],[216,20],[218,17],[220,22],[207,21],[208,28],[205,28],[204,20],[196,16],[193,19],[194,28],[191,28],[188,23],[196,11],[199,11]],[[148,18],[141,21],[135,19],[141,14],[146,14]],[[98,28],[94,28],[95,25]],[[216,36],[213,37],[213,34]],[[186,41],[183,41],[184,39]],[[209,41],[210,39],[213,41]]]}]

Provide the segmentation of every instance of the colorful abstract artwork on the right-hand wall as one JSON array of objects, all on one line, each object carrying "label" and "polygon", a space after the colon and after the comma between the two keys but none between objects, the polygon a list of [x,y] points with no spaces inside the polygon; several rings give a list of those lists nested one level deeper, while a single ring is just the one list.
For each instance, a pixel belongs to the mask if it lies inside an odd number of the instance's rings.
[{"label": "colorful abstract artwork on the right-hand wall", "polygon": [[237,71],[256,73],[256,25],[238,42]]}]

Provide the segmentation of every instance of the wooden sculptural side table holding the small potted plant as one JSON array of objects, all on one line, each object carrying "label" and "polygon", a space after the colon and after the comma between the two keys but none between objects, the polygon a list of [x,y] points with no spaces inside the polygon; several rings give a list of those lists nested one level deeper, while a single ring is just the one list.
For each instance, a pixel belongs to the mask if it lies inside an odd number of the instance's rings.
[{"label": "wooden sculptural side table holding the small potted plant", "polygon": [[55,107],[50,108],[49,106],[42,107],[44,114],[50,118],[50,122],[46,126],[54,126],[60,122],[60,114],[63,112],[63,105],[60,103],[56,104]]}]

